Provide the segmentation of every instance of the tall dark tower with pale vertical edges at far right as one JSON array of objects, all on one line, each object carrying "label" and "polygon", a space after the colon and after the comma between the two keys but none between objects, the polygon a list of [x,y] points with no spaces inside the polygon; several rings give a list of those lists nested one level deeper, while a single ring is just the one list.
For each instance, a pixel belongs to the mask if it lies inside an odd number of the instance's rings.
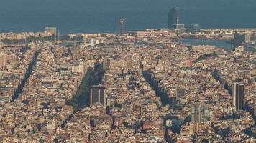
[{"label": "tall dark tower with pale vertical edges at far right", "polygon": [[242,82],[235,82],[233,84],[233,105],[236,110],[244,109],[244,84]]}]

